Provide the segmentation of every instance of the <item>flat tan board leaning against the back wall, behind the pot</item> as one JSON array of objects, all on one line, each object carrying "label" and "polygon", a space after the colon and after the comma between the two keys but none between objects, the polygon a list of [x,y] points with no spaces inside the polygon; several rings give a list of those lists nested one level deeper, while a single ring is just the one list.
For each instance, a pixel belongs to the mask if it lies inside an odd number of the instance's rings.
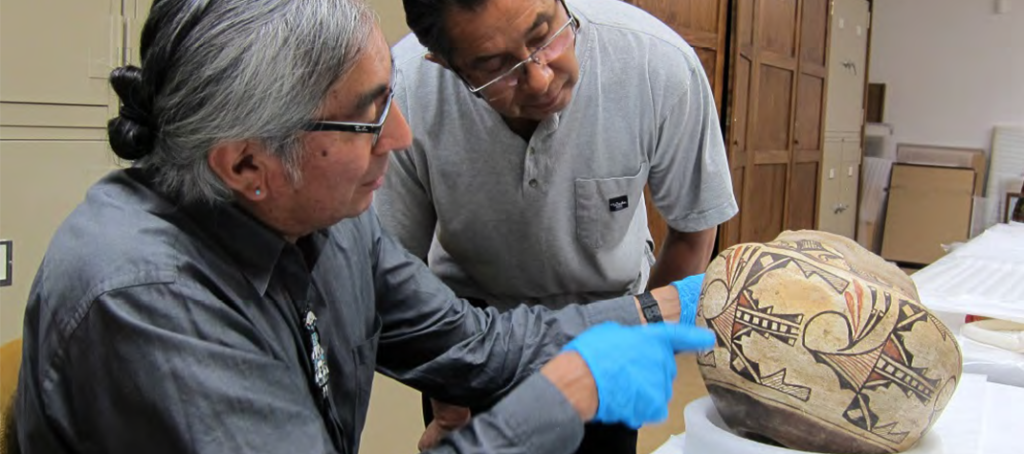
[{"label": "flat tan board leaning against the back wall, behind the pot", "polygon": [[882,256],[928,264],[943,245],[970,238],[975,172],[953,167],[893,166]]}]

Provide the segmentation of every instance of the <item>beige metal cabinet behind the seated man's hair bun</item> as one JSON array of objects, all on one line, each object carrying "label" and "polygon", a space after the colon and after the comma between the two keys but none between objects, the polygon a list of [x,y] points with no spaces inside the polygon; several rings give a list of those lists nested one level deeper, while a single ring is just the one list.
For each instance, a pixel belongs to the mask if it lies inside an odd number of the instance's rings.
[{"label": "beige metal cabinet behind the seated man's hair bun", "polygon": [[0,1],[0,239],[13,242],[0,287],[0,342],[22,333],[29,287],[50,237],[118,163],[111,71],[134,56],[148,0]]}]

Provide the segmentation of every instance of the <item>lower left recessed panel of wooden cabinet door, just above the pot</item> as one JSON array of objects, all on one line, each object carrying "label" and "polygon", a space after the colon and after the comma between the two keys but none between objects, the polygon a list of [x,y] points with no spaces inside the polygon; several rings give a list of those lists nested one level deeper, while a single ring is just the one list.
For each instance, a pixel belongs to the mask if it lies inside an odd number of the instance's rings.
[{"label": "lower left recessed panel of wooden cabinet door, just above the pot", "polygon": [[782,233],[786,167],[785,164],[753,167],[749,191],[757,197],[752,198],[743,206],[744,213],[740,221],[741,242],[771,241]]}]

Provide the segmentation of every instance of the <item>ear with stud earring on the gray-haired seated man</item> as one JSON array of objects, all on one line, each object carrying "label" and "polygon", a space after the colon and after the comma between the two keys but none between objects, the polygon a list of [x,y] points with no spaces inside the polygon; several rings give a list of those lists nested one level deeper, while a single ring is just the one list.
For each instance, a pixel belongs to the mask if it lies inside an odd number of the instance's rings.
[{"label": "ear with stud earring on the gray-haired seated man", "polygon": [[253,202],[266,197],[271,157],[249,140],[232,140],[214,146],[207,157],[213,173],[229,190]]}]

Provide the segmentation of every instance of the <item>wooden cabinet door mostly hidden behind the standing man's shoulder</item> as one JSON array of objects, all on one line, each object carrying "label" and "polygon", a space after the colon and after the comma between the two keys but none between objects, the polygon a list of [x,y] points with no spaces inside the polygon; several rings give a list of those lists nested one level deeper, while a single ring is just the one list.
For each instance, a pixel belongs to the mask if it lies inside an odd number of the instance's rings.
[{"label": "wooden cabinet door mostly hidden behind the standing man's shoulder", "polygon": [[[722,95],[725,90],[725,44],[728,35],[729,2],[726,0],[625,0],[657,17],[683,37],[697,56],[712,91],[715,106],[722,112]],[[660,251],[662,242],[668,233],[668,225],[651,200],[650,192],[644,191],[647,207],[647,224],[654,238],[654,251]]]}]

